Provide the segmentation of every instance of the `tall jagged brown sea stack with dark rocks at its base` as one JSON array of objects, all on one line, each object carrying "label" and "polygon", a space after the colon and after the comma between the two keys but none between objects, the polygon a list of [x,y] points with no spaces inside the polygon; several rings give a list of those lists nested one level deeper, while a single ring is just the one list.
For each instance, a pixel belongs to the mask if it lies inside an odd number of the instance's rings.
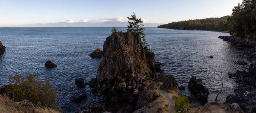
[{"label": "tall jagged brown sea stack with dark rocks at its base", "polygon": [[[89,83],[99,99],[86,103],[76,112],[148,111],[150,102],[159,97],[158,93],[153,92],[155,81],[166,76],[163,70],[159,69],[160,65],[155,65],[154,53],[142,46],[139,35],[133,35],[131,32],[113,33],[104,42],[103,59],[96,78]],[[170,90],[176,89],[173,76],[169,75],[167,78],[172,81],[168,81],[166,86]]]}]

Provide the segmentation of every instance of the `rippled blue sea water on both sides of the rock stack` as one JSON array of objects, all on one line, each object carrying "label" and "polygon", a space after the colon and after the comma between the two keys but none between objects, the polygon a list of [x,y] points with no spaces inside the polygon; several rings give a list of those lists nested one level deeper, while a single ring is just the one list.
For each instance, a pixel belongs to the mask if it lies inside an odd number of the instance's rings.
[{"label": "rippled blue sea water on both sides of the rock stack", "polygon": [[[117,27],[126,31],[125,27]],[[237,60],[246,61],[246,54],[236,46],[217,38],[229,35],[222,32],[187,31],[172,29],[146,28],[146,39],[150,49],[156,54],[156,61],[163,64],[162,69],[172,74],[178,86],[186,86],[191,76],[203,79],[209,89],[208,101],[213,101],[221,88],[221,74],[224,88],[219,95],[221,102],[233,93],[235,83],[228,78],[228,72],[247,70],[248,66],[239,66]],[[1,28],[0,41],[6,51],[0,57],[0,86],[8,83],[8,77],[26,76],[39,73],[40,80],[50,78],[52,86],[61,94],[58,100],[62,110],[72,112],[86,101],[94,99],[89,87],[77,88],[75,78],[84,78],[89,82],[97,73],[101,58],[88,56],[111,35],[111,27],[57,27],[57,28]],[[214,58],[208,58],[209,56]],[[47,60],[58,67],[46,69]],[[80,103],[71,103],[72,93],[87,91],[88,98]],[[193,96],[186,88],[178,90],[180,95]]]}]

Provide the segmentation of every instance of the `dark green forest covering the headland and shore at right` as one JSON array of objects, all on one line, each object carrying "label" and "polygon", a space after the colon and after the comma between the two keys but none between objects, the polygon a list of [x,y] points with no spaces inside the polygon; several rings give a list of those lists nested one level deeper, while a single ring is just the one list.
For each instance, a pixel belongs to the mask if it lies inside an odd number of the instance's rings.
[{"label": "dark green forest covering the headland and shore at right", "polygon": [[228,31],[233,37],[256,40],[256,0],[242,0],[231,16],[186,20],[163,24],[157,28]]}]

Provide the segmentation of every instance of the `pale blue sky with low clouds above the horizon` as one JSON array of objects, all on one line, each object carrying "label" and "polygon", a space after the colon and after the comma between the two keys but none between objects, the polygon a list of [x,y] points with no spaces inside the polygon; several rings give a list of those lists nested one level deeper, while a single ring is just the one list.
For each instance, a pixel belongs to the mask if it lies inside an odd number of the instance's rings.
[{"label": "pale blue sky with low clouds above the horizon", "polygon": [[0,0],[0,26],[127,21],[147,23],[223,17],[242,0]]}]

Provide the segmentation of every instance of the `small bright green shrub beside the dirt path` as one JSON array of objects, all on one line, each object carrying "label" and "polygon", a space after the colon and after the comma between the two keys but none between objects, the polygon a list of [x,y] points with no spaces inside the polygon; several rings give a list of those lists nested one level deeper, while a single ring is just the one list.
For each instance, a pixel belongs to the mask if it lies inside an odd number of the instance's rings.
[{"label": "small bright green shrub beside the dirt path", "polygon": [[179,111],[182,108],[190,108],[190,104],[188,101],[188,97],[186,96],[180,96],[180,97],[176,97],[173,96],[174,101],[174,105],[177,111]]}]

